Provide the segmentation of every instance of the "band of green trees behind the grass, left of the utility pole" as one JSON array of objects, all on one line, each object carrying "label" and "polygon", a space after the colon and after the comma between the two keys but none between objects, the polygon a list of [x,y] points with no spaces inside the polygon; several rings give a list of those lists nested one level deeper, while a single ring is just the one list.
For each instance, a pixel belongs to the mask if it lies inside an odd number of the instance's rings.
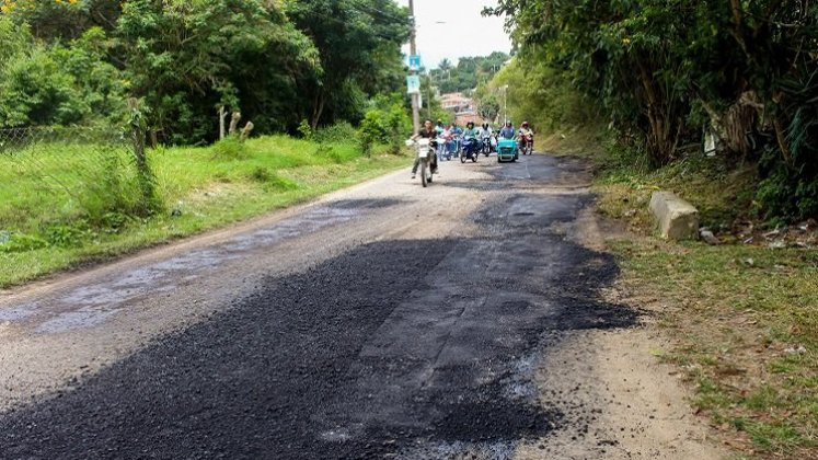
[{"label": "band of green trees behind the grass, left of the utility pole", "polygon": [[226,106],[262,133],[362,118],[403,85],[390,0],[0,0],[0,127],[110,123],[142,100],[160,140],[212,140]]}]

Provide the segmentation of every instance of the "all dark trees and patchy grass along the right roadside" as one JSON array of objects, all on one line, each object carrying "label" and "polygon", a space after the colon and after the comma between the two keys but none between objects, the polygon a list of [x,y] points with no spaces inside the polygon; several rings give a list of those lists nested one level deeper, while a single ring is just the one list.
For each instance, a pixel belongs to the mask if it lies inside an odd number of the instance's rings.
[{"label": "all dark trees and patchy grass along the right roadside", "polygon": [[[620,300],[672,338],[654,352],[722,440],[739,458],[818,457],[818,8],[580,3],[486,11],[520,49],[482,94],[508,85],[542,149],[596,163],[598,209],[626,230],[610,243]],[[657,189],[717,242],[657,238]]]}]

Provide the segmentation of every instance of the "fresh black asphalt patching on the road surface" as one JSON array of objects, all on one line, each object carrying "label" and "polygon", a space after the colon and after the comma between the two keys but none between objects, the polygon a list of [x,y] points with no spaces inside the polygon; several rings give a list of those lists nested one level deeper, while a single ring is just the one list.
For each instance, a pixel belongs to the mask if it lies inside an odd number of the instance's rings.
[{"label": "fresh black asphalt patching on the road surface", "polygon": [[[599,300],[614,260],[554,225],[587,194],[554,159],[468,183],[503,189],[473,237],[361,244],[287,277],[60,394],[0,415],[0,458],[510,458],[571,419],[537,403],[553,334],[627,327]],[[398,207],[348,200],[339,209]],[[557,334],[558,335],[558,334]]]}]

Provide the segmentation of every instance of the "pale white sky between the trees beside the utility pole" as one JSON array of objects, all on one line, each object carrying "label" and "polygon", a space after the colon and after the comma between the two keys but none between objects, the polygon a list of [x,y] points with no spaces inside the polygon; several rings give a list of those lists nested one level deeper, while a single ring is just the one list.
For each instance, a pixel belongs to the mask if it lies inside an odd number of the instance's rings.
[{"label": "pale white sky between the trees beside the utility pole", "polygon": [[[408,0],[395,1],[408,5]],[[415,0],[417,51],[423,65],[430,69],[443,58],[457,62],[460,57],[509,53],[511,41],[503,30],[503,19],[480,14],[483,7],[496,3],[495,0]],[[404,53],[408,55],[408,45]]]}]

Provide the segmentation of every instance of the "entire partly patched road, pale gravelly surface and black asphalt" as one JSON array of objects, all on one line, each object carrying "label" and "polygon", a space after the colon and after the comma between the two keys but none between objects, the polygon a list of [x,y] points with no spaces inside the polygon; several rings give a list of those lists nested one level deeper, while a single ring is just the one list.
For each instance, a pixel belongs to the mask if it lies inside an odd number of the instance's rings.
[{"label": "entire partly patched road, pale gravelly surface and black asphalt", "polygon": [[407,171],[4,292],[0,458],[715,458],[602,390],[581,161]]}]

